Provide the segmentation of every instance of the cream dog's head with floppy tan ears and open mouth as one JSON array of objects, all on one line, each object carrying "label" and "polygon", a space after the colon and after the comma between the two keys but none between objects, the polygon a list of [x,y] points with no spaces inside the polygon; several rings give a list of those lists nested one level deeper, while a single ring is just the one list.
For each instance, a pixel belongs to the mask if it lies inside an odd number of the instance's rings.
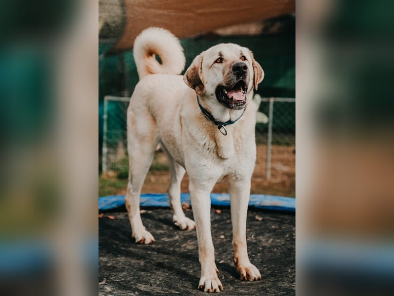
[{"label": "cream dog's head with floppy tan ears and open mouth", "polygon": [[241,110],[263,77],[262,67],[248,48],[222,43],[200,53],[183,80],[198,95],[216,97],[227,108]]}]

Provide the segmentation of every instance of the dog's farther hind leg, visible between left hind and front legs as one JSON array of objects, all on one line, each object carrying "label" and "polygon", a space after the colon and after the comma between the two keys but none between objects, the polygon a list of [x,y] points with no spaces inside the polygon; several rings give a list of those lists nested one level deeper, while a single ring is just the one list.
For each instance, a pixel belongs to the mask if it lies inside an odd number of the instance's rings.
[{"label": "dog's farther hind leg, visible between left hind and front legs", "polygon": [[187,218],[182,210],[181,205],[181,181],[185,176],[185,169],[177,163],[167,152],[170,163],[171,179],[168,187],[169,204],[174,213],[172,221],[181,230],[195,229],[196,224],[193,220]]}]

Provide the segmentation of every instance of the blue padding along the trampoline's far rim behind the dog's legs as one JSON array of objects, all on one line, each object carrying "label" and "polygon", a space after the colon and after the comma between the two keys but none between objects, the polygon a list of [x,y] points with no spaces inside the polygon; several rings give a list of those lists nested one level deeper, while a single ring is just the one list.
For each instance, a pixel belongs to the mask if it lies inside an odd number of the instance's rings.
[{"label": "blue padding along the trampoline's far rim behind the dog's legs", "polygon": [[[181,193],[181,202],[190,203],[190,194]],[[230,196],[227,193],[211,193],[213,206],[230,206]],[[110,210],[125,205],[125,195],[112,195],[99,197],[99,210]],[[148,193],[141,194],[142,207],[169,207],[168,194]],[[251,194],[249,207],[258,209],[296,212],[296,199],[265,194]]]}]

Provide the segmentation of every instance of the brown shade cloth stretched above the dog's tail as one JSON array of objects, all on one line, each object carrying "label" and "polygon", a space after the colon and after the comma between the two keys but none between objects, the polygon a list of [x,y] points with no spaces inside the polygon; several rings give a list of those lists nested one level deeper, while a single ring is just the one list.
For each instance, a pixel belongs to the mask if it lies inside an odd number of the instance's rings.
[{"label": "brown shade cloth stretched above the dog's tail", "polygon": [[115,50],[132,48],[148,27],[193,37],[226,26],[250,23],[296,11],[295,0],[125,0],[126,24]]}]

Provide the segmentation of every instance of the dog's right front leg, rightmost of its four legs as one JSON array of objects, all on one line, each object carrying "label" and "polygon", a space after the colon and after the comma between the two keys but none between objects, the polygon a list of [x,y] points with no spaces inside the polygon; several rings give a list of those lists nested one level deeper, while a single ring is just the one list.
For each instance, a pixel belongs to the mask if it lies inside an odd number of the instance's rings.
[{"label": "dog's right front leg, rightmost of its four legs", "polygon": [[246,217],[248,213],[250,179],[230,181],[229,189],[235,267],[241,280],[260,280],[262,278],[260,271],[250,262],[246,246]]}]

